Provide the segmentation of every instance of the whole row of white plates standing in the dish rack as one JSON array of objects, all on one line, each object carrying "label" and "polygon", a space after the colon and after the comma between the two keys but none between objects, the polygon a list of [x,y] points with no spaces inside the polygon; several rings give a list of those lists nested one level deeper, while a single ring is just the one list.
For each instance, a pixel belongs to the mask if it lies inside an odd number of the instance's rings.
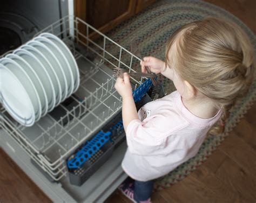
[{"label": "whole row of white plates standing in the dish rack", "polygon": [[24,126],[32,126],[71,96],[79,82],[75,58],[51,33],[42,33],[0,59],[0,99]]}]

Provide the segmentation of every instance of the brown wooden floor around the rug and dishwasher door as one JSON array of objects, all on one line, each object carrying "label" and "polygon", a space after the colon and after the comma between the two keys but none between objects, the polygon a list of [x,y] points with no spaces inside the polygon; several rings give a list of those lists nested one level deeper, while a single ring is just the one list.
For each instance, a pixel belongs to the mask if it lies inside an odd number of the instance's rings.
[{"label": "brown wooden floor around the rug and dishwasher door", "polygon": [[[255,0],[207,0],[256,33]],[[153,202],[255,202],[256,103],[224,142],[178,184],[153,193]],[[0,202],[51,202],[0,148]],[[107,203],[131,202],[114,192]]]}]

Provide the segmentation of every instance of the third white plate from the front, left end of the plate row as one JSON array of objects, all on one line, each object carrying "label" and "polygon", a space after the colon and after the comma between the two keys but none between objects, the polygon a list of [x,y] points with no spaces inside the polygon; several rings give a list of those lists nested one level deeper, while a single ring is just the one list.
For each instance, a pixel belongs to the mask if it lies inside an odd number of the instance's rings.
[{"label": "third white plate from the front, left end of the plate row", "polygon": [[[45,114],[48,112],[49,106],[52,106],[55,104],[53,103],[53,94],[52,94],[53,87],[52,87],[50,77],[48,73],[44,70],[42,63],[39,62],[39,60],[34,55],[32,55],[32,53],[24,49],[17,49],[14,51],[14,53],[22,57],[26,62],[28,62],[28,64],[36,72],[38,78],[41,80],[43,84],[43,89],[44,89],[44,92],[46,93],[45,100],[47,101],[47,103],[45,105],[46,106],[45,111],[42,112],[42,116],[45,116]],[[44,92],[38,92],[38,93],[42,94]]]}]

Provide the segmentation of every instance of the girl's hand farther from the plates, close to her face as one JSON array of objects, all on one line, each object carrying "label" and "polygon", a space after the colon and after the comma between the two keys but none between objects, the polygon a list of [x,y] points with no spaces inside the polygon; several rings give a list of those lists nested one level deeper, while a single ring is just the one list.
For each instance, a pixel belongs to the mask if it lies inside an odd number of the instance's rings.
[{"label": "girl's hand farther from the plates, close to her face", "polygon": [[142,66],[143,73],[146,73],[145,66],[149,67],[151,72],[156,74],[161,73],[165,69],[165,62],[152,56],[144,57],[143,60],[140,61],[140,65]]}]

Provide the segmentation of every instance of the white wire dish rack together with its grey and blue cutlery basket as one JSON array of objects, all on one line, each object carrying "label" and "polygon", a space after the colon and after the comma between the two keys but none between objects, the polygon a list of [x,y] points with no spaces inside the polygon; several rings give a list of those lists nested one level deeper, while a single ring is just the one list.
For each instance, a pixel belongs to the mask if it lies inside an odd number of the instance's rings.
[{"label": "white wire dish rack together with its grey and blue cutlery basket", "polygon": [[[82,185],[125,137],[122,98],[114,89],[112,69],[124,67],[135,72],[132,67],[138,66],[140,59],[77,17],[66,16],[41,32],[53,33],[69,46],[79,67],[79,89],[31,127],[18,124],[0,104],[1,127],[49,180],[59,181],[69,174],[72,184]],[[91,32],[99,36],[94,41]],[[131,77],[131,82],[137,100],[152,85],[144,77]]]}]

